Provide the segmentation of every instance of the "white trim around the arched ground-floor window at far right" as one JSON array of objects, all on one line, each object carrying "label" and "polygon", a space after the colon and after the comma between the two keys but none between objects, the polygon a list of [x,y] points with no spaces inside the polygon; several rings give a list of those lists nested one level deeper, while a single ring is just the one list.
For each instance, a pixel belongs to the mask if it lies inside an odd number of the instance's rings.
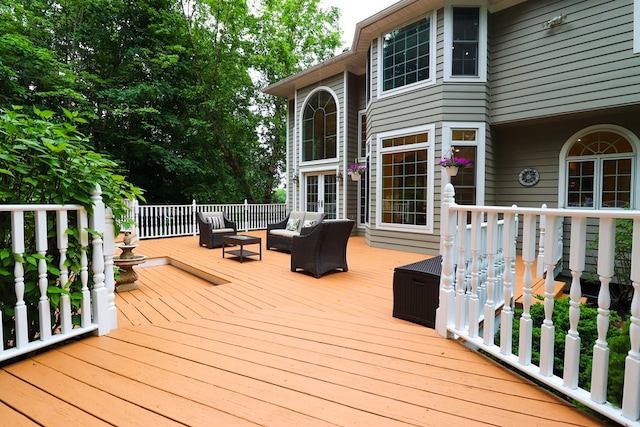
[{"label": "white trim around the arched ground-floor window at far right", "polygon": [[[633,150],[634,150],[633,154],[631,154],[631,156],[624,156],[624,157],[632,157],[631,168],[633,171],[635,171],[635,176],[633,177],[633,182],[632,182],[634,187],[632,188],[632,192],[631,192],[631,209],[636,209],[636,206],[638,205],[638,200],[635,194],[638,192],[638,189],[640,189],[640,173],[636,170],[637,164],[638,164],[638,155],[639,155],[638,153],[640,153],[640,139],[638,139],[638,137],[633,132],[631,132],[626,128],[623,128],[622,126],[609,125],[609,124],[593,125],[593,126],[586,127],[582,130],[579,130],[578,132],[571,135],[569,139],[567,139],[567,141],[562,146],[562,149],[560,150],[560,155],[558,156],[559,157],[558,206],[560,208],[565,208],[565,209],[568,208],[566,193],[567,193],[567,181],[569,178],[567,175],[569,173],[567,170],[567,153],[569,152],[569,149],[571,148],[573,143],[576,141],[576,139],[586,134],[597,132],[597,131],[611,131],[611,132],[619,133],[625,138],[627,138],[627,140],[633,147]],[[571,209],[580,209],[580,208],[571,207]],[[591,209],[600,209],[600,208],[596,207],[594,203],[594,207]],[[616,208],[607,208],[607,209],[616,209]]]}]

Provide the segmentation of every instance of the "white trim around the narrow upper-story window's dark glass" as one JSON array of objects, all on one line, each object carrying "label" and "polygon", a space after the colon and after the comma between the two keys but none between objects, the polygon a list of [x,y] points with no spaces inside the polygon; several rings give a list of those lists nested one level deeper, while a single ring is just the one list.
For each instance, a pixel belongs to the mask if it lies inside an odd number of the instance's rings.
[{"label": "white trim around the narrow upper-story window's dark glass", "polygon": [[[638,0],[640,1],[640,0]],[[451,75],[451,61],[453,51],[453,8],[479,7],[480,28],[478,34],[478,76]],[[476,82],[487,81],[487,7],[483,0],[463,0],[463,3],[448,4],[444,8],[444,81],[445,82]]]}]

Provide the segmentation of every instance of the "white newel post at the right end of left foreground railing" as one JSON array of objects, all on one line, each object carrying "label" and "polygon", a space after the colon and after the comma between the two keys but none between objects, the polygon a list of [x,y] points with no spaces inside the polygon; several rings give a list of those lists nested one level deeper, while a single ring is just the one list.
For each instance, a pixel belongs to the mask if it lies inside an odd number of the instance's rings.
[{"label": "white newel post at the right end of left foreground railing", "polygon": [[105,206],[101,197],[102,191],[99,185],[91,195],[93,202],[93,215],[89,218],[89,227],[95,231],[92,236],[93,290],[91,291],[91,303],[93,322],[98,324],[98,335],[109,332],[109,312],[107,302],[107,288],[104,284],[104,253],[102,250],[102,236],[104,236]]}]

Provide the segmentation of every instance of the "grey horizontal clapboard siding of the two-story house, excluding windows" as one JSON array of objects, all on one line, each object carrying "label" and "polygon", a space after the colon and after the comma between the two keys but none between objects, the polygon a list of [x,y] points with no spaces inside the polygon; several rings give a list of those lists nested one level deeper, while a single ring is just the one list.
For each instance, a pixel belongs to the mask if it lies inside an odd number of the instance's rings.
[{"label": "grey horizontal clapboard siding of the two-story house, excluding windows", "polygon": [[[290,165],[303,171],[336,167],[344,174],[354,159],[363,160],[359,156],[358,112],[366,110],[367,136],[371,141],[370,221],[359,232],[372,246],[436,254],[440,244],[440,194],[448,182],[435,165],[447,154],[443,150],[443,132],[456,123],[478,124],[484,131],[484,170],[479,180],[482,203],[546,203],[557,207],[559,155],[571,135],[594,124],[616,124],[640,135],[640,53],[633,50],[633,1],[525,1],[489,14],[484,52],[487,77],[477,82],[444,78],[448,66],[444,55],[445,11],[450,10],[445,2],[435,14],[424,10],[422,15],[415,15],[416,19],[435,17],[433,84],[380,96],[380,36],[402,25],[386,28],[372,39],[370,76],[341,73],[296,90],[295,103],[290,103],[295,110],[290,114]],[[561,14],[567,16],[564,24],[543,28],[544,22]],[[306,97],[321,86],[336,94],[339,105],[338,159],[301,167],[300,112]],[[448,128],[443,127],[445,123]],[[376,212],[382,209],[377,191],[381,187],[377,166],[380,135],[425,126],[433,126],[433,144],[429,148],[434,159],[430,169],[433,197],[428,201],[431,227],[425,232],[380,226],[376,221]],[[533,187],[523,187],[518,182],[518,173],[525,167],[535,167],[540,172],[541,179]],[[294,191],[296,202],[292,208],[301,206],[301,184],[302,181]],[[359,185],[345,175],[338,186],[339,217],[357,219]]]}]

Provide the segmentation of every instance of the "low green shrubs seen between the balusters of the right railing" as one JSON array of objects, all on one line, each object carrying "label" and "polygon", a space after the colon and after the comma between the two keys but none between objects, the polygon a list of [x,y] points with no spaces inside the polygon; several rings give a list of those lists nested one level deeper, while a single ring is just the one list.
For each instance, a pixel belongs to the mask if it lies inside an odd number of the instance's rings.
[{"label": "low green shrubs seen between the balusters of the right railing", "polygon": [[[542,299],[542,297],[539,297]],[[555,327],[554,342],[554,362],[553,372],[562,377],[564,371],[564,351],[565,338],[569,331],[569,298],[556,299],[553,307],[552,320]],[[540,336],[541,326],[544,321],[544,304],[533,304],[530,310],[533,321],[533,340],[531,362],[538,365],[540,363]],[[513,353],[518,354],[518,344],[520,338],[520,319],[522,309],[516,309],[513,320]],[[591,369],[593,360],[593,347],[598,339],[597,328],[598,310],[596,308],[581,305],[580,322],[578,323],[578,334],[580,336],[580,371],[578,375],[578,386],[589,390],[591,384]],[[624,372],[624,358],[629,351],[629,330],[628,322],[625,329],[621,328],[621,318],[611,311],[609,317],[609,331],[607,342],[610,348],[609,360],[609,382],[607,388],[607,399],[609,402],[620,405],[622,398],[622,377]],[[496,337],[499,338],[499,332]]]}]

